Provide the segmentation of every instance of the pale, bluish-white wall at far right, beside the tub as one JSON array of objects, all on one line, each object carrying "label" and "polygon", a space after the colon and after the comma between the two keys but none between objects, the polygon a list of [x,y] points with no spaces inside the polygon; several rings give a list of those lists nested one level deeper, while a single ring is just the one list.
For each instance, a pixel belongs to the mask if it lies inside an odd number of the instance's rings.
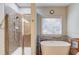
[{"label": "pale, bluish-white wall at far right, beside the tub", "polygon": [[79,38],[79,4],[68,7],[68,35]]}]

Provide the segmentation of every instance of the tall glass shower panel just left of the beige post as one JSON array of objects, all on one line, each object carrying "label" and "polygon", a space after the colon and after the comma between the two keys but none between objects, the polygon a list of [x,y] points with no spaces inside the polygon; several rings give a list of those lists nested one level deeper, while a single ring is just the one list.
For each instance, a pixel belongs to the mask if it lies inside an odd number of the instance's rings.
[{"label": "tall glass shower panel just left of the beige post", "polygon": [[22,16],[23,54],[31,55],[31,15]]}]

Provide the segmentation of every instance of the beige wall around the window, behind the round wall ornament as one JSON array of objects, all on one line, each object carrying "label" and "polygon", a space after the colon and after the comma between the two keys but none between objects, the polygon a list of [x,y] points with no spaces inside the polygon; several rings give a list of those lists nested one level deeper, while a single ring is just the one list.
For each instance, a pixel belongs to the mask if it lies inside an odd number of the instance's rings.
[{"label": "beige wall around the window, behind the round wall ornament", "polygon": [[[54,10],[54,14],[50,14],[50,10]],[[67,7],[40,7],[37,9],[41,17],[62,17],[62,33],[67,34]],[[38,17],[40,20],[40,17]],[[41,21],[39,21],[41,22]],[[39,33],[41,28],[39,27]]]}]

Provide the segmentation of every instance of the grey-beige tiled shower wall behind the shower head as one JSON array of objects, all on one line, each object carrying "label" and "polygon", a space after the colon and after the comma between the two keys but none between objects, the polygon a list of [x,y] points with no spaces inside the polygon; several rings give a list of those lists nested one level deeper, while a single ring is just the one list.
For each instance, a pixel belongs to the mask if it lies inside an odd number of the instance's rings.
[{"label": "grey-beige tiled shower wall behind the shower head", "polygon": [[14,52],[21,42],[21,18],[17,18],[17,14],[9,15],[8,33],[9,33],[9,54]]}]

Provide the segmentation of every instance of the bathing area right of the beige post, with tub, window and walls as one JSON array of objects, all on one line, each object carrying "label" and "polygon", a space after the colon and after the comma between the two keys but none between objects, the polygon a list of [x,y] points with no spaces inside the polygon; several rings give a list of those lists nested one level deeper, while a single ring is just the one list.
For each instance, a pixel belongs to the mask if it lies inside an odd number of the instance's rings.
[{"label": "bathing area right of the beige post, with tub, window and walls", "polygon": [[[64,55],[64,52],[67,55],[79,54],[79,28],[77,23],[79,21],[79,4],[41,5],[37,8],[37,54]],[[70,48],[58,47],[62,45],[68,45],[67,47]]]}]

